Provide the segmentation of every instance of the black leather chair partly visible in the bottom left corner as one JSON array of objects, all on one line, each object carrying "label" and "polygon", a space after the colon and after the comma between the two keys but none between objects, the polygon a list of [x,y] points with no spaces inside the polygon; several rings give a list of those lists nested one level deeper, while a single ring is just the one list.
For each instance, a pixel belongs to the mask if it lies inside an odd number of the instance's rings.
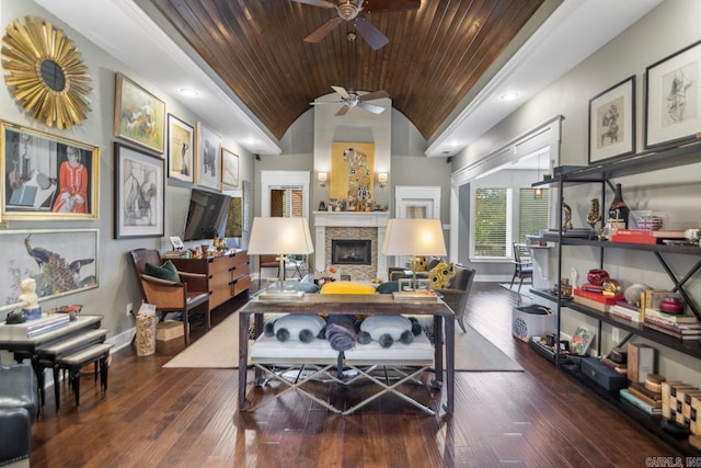
[{"label": "black leather chair partly visible in the bottom left corner", "polygon": [[32,424],[39,410],[31,366],[0,365],[0,466],[30,466]]}]

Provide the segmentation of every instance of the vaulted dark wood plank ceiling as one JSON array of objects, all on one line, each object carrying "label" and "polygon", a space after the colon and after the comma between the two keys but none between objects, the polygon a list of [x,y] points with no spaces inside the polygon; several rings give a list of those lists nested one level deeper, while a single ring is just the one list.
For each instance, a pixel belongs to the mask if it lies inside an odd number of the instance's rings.
[{"label": "vaulted dark wood plank ceiling", "polygon": [[359,34],[348,41],[355,26],[346,21],[317,44],[303,42],[335,9],[292,0],[152,3],[277,138],[333,84],[388,91],[429,139],[543,0],[423,0],[417,11],[361,12],[390,41],[378,50]]}]

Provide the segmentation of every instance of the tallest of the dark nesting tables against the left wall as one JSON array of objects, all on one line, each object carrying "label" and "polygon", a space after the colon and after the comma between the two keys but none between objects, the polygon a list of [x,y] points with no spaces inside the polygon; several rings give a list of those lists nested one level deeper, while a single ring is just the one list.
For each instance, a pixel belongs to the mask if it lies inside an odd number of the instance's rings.
[{"label": "tallest of the dark nesting tables against the left wall", "polygon": [[[69,322],[66,327],[39,334],[35,338],[3,338],[0,339],[0,350],[5,350],[14,354],[14,359],[22,363],[24,359],[32,361],[32,368],[36,374],[39,387],[42,406],[46,400],[44,391],[44,366],[39,359],[39,353],[44,347],[48,347],[64,340],[68,340],[88,330],[100,328],[102,316],[77,316],[76,321]],[[0,324],[0,327],[12,327]],[[57,385],[54,383],[54,385]]]}]

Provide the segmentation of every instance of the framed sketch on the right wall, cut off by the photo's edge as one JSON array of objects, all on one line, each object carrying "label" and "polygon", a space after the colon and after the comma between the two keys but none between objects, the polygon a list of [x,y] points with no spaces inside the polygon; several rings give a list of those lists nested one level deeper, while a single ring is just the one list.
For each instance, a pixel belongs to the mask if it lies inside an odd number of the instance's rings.
[{"label": "framed sketch on the right wall, cut off by the photo's edge", "polygon": [[701,41],[645,69],[645,149],[701,133]]}]

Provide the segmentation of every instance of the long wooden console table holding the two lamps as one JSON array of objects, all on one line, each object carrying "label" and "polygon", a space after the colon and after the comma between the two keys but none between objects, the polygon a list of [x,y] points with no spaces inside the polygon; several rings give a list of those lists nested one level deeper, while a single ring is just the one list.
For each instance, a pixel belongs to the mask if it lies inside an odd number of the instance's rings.
[{"label": "long wooden console table holding the two lamps", "polygon": [[307,294],[301,299],[255,298],[239,309],[239,410],[246,411],[245,399],[249,367],[249,322],[255,320],[255,335],[263,331],[265,313],[364,313],[434,316],[436,380],[443,383],[443,322],[446,326],[446,403],[444,410],[452,414],[455,400],[455,312],[443,300],[394,300],[392,295],[319,295]]}]

